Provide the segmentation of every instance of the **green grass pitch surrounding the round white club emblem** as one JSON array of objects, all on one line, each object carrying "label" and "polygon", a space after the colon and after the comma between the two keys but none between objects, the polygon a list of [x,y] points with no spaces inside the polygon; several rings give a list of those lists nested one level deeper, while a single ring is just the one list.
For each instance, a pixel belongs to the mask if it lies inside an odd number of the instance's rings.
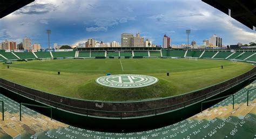
[{"label": "green grass pitch surrounding the round white club emblem", "polygon": [[[224,65],[224,69],[221,69]],[[224,60],[171,58],[66,59],[0,65],[0,77],[60,96],[104,101],[164,98],[202,89],[238,76],[254,65]],[[60,71],[60,75],[57,75]],[[170,76],[166,76],[170,72]],[[159,82],[137,89],[100,86],[95,79],[111,74],[141,74]]]}]

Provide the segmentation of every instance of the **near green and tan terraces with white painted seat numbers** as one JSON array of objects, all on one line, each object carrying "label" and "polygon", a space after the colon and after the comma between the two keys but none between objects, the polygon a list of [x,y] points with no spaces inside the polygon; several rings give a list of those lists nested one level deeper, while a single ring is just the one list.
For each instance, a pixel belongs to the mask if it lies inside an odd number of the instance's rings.
[{"label": "near green and tan terraces with white painted seat numbers", "polygon": [[[256,130],[256,81],[191,118],[148,131],[106,133],[77,128],[51,120],[0,94],[4,101],[4,121],[0,121],[0,138],[253,138]],[[248,106],[247,106],[247,91]],[[2,110],[2,109],[1,109]],[[0,112],[2,115],[2,112]],[[0,118],[2,118],[0,116]]]}]

